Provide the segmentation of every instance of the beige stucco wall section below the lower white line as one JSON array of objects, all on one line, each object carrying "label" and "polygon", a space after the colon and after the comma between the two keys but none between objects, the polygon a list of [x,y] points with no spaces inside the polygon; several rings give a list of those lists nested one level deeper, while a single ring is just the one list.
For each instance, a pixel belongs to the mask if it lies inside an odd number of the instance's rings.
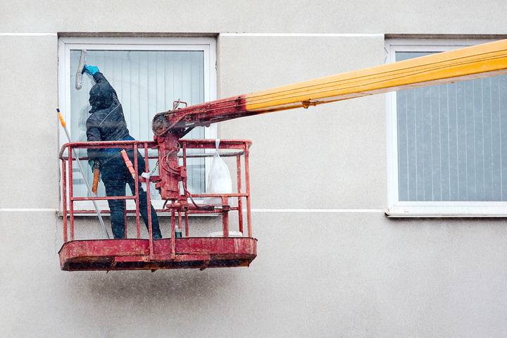
[{"label": "beige stucco wall section below the lower white line", "polygon": [[502,337],[506,329],[499,220],[254,213],[250,268],[108,274],[58,270],[54,215],[2,213],[0,222],[1,337]]}]

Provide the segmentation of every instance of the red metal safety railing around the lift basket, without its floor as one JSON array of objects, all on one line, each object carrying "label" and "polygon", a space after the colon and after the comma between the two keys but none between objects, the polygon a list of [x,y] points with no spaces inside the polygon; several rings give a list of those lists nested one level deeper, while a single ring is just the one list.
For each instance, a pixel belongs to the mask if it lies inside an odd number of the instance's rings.
[{"label": "red metal safety railing around the lift basket, without its floor", "polygon": [[[180,166],[180,187],[182,194],[178,201],[166,201],[162,208],[156,208],[159,215],[165,215],[170,213],[171,216],[171,229],[170,237],[175,238],[175,222],[178,220],[178,225],[182,229],[183,237],[189,237],[191,229],[189,228],[189,214],[221,214],[223,220],[223,237],[229,237],[229,217],[230,212],[237,213],[237,224],[239,226],[239,232],[244,234],[244,210],[246,210],[246,230],[247,236],[252,237],[251,231],[251,206],[250,206],[250,184],[249,184],[249,147],[251,142],[248,140],[231,140],[231,139],[220,139],[219,149],[225,150],[220,152],[220,157],[235,157],[236,158],[236,192],[230,194],[190,194],[187,189],[187,159],[188,158],[205,158],[213,156],[213,152],[206,152],[203,154],[188,154],[189,149],[215,149],[215,139],[180,139],[181,151],[178,155],[182,160]],[[137,172],[137,156],[134,156],[134,180],[135,180],[135,192],[132,192],[133,196],[74,196],[74,173],[73,168],[75,166],[76,158],[73,157],[73,149],[133,149],[134,154],[139,152],[144,156],[146,163],[145,172],[150,173],[149,159],[158,158],[156,142],[145,142],[145,141],[117,141],[117,142],[71,142],[64,144],[61,148],[59,157],[61,159],[61,170],[62,170],[62,215],[63,215],[63,241],[65,243],[75,240],[75,216],[95,213],[95,211],[89,208],[76,208],[75,202],[77,201],[107,201],[110,199],[123,199],[133,200],[135,202],[134,209],[125,208],[125,224],[127,214],[135,215],[136,218],[136,238],[141,237],[140,218],[139,218],[139,182],[146,182],[144,177],[140,176]],[[144,154],[143,154],[144,152]],[[243,161],[242,161],[243,158]],[[80,161],[87,161],[86,156],[80,157]],[[159,159],[159,161],[161,161]],[[242,165],[243,164],[243,165]],[[158,170],[163,170],[162,165],[158,166]],[[244,169],[244,170],[243,170]],[[230,171],[231,178],[234,180],[234,171]],[[80,174],[81,175],[81,174]],[[158,182],[160,176],[151,176],[150,182]],[[243,184],[244,183],[244,184]],[[150,184],[146,184],[146,195],[148,204],[151,203],[149,187]],[[141,192],[144,193],[144,192]],[[205,197],[219,197],[222,199],[222,206],[206,206],[195,199]],[[228,204],[227,201],[232,198],[236,201],[232,205]],[[99,210],[101,215],[108,215],[108,209],[101,208]],[[149,240],[151,243],[151,249],[153,249],[152,238],[151,238],[151,213],[148,213],[149,217]],[[184,223],[184,227],[182,227]],[[184,231],[183,231],[184,230]],[[244,234],[245,235],[245,234]],[[125,238],[127,238],[127,227],[125,227]],[[173,254],[174,254],[174,241],[173,242]]]}]

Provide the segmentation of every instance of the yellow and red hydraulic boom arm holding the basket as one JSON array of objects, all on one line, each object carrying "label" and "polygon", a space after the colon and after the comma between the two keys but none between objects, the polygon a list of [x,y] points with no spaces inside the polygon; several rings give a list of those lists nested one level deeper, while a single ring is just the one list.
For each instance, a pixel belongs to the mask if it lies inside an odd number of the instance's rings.
[{"label": "yellow and red hydraulic boom arm holding the basket", "polygon": [[433,84],[507,74],[507,40],[471,46],[373,68],[196,104],[155,115],[154,139],[163,163],[162,199],[177,200],[181,173],[178,139],[192,128],[233,118],[382,94]]}]

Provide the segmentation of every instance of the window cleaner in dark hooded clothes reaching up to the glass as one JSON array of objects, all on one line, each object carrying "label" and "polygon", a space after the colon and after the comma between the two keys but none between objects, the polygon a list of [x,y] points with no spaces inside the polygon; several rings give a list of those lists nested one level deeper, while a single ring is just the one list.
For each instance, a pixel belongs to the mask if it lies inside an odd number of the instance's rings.
[{"label": "window cleaner in dark hooded clothes reaching up to the glass", "polygon": [[[92,115],[87,120],[87,140],[93,141],[120,141],[133,140],[127,129],[127,122],[123,115],[123,109],[118,101],[115,89],[111,87],[108,80],[99,68],[93,65],[84,65],[84,71],[92,75],[95,84],[89,92],[89,104],[92,109],[89,111]],[[130,174],[127,165],[120,153],[121,149],[88,149],[88,158],[99,161],[99,168],[102,181],[106,187],[107,196],[125,196],[126,184],[129,184],[132,193],[135,192],[134,178]],[[134,151],[127,151],[130,161],[134,163]],[[144,158],[137,154],[137,170],[143,173],[145,170]],[[108,200],[109,211],[111,212],[111,229],[114,238],[125,237],[125,202],[122,199]],[[144,224],[148,227],[148,201],[146,192],[139,184],[139,211],[141,212]],[[151,230],[153,238],[162,238],[158,226],[158,217],[155,209],[151,206]]]}]

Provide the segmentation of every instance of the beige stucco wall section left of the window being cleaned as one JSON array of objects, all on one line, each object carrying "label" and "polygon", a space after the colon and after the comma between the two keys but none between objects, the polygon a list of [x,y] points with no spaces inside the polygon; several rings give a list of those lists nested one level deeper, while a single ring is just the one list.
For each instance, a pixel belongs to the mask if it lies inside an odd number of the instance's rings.
[{"label": "beige stucco wall section left of the window being cleaned", "polygon": [[0,36],[0,161],[8,168],[0,179],[0,208],[58,206],[58,163],[49,161],[58,147],[57,41]]}]

